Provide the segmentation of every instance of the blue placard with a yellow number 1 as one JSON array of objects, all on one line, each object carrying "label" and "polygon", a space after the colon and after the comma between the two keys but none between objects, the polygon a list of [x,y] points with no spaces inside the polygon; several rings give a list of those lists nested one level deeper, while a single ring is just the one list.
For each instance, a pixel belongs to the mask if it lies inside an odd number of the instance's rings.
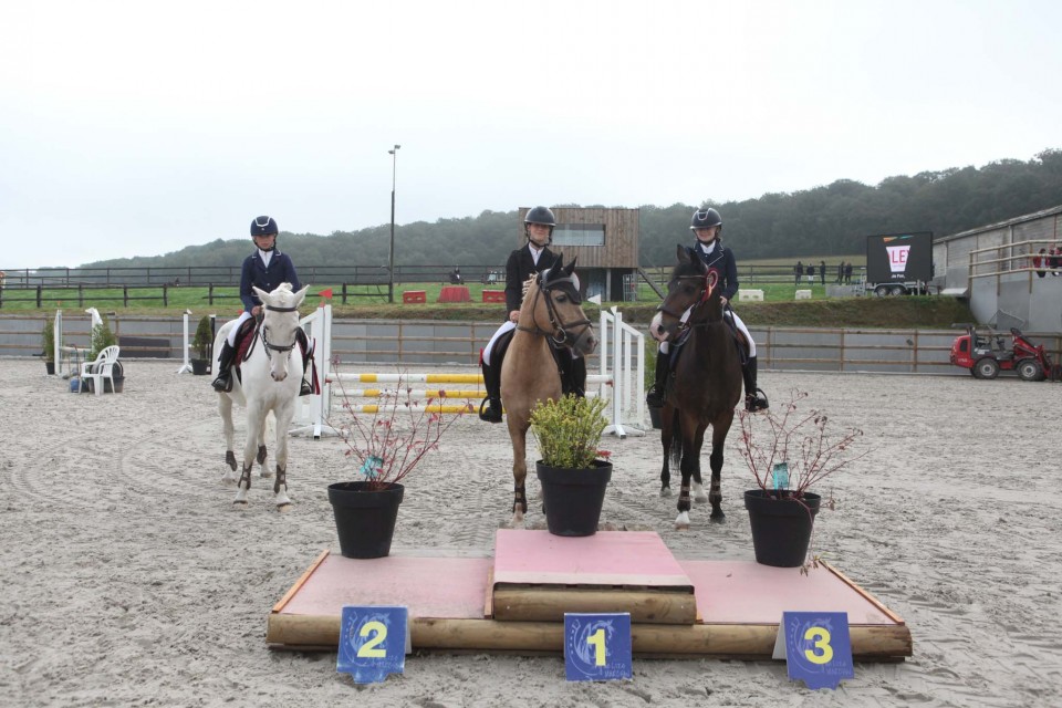
[{"label": "blue placard with a yellow number 1", "polygon": [[570,681],[631,678],[631,613],[564,613],[564,670]]}]

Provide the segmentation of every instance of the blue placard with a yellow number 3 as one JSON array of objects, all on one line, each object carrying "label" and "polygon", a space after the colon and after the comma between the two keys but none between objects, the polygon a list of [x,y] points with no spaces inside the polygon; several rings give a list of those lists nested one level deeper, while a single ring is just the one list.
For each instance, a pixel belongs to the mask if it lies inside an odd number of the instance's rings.
[{"label": "blue placard with a yellow number 3", "polygon": [[855,677],[846,612],[783,612],[779,632],[791,679],[816,689],[836,688],[842,678]]}]

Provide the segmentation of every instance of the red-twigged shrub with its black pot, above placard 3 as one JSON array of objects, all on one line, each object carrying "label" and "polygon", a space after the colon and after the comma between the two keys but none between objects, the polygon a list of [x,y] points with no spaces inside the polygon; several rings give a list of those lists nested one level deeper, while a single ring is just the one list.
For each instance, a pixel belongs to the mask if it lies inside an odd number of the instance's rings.
[{"label": "red-twigged shrub with its black pot, above placard 3", "polygon": [[806,570],[814,518],[822,504],[822,496],[811,488],[867,454],[852,455],[862,430],[829,431],[825,413],[803,409],[806,397],[806,392],[793,391],[787,404],[739,414],[738,449],[757,485],[745,492],[745,507],[756,560],[764,565]]}]

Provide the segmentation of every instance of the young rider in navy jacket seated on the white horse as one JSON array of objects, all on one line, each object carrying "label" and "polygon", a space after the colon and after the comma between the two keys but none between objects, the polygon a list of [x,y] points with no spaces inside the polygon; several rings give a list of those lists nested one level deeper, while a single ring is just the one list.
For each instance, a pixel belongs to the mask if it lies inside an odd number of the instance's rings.
[{"label": "young rider in navy jacket seated on the white horse", "polygon": [[[254,241],[254,252],[243,260],[243,270],[240,272],[240,300],[243,302],[243,312],[240,313],[236,325],[229,330],[229,336],[221,347],[221,356],[218,362],[218,376],[214,379],[212,386],[217,392],[232,391],[232,360],[236,358],[236,336],[244,322],[256,317],[262,311],[262,303],[258,295],[251,290],[256,287],[266,292],[272,292],[280,283],[291,283],[294,292],[302,290],[299,283],[299,275],[295,273],[295,266],[287,253],[277,249],[277,221],[272,217],[258,217],[251,221],[251,240]],[[302,329],[299,329],[302,332]],[[303,334],[303,337],[305,334]],[[303,375],[302,386],[299,395],[308,396],[313,393],[310,382],[306,378],[308,367],[308,346],[306,342],[300,342],[303,351]]]}]

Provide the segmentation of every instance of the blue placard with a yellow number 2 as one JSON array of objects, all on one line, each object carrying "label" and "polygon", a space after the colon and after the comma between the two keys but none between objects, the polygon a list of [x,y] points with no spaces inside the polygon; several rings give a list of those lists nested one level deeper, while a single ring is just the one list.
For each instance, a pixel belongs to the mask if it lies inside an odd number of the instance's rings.
[{"label": "blue placard with a yellow number 2", "polygon": [[335,670],[355,684],[376,684],[406,668],[408,612],[405,607],[346,605],[340,620]]}]

